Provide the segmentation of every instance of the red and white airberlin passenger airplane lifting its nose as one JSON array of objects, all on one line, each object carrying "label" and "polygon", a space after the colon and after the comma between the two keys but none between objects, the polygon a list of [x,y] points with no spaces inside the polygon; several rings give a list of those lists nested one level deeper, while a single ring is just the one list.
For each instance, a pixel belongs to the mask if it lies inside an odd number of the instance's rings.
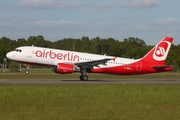
[{"label": "red and white airberlin passenger airplane lifting its nose", "polygon": [[[80,80],[87,81],[86,73],[104,73],[116,75],[140,75],[173,70],[165,65],[173,38],[164,37],[154,48],[140,59],[82,53],[36,46],[22,46],[8,52],[10,60],[28,65],[54,67],[54,72],[71,74],[80,72]],[[29,70],[26,70],[29,73]]]}]

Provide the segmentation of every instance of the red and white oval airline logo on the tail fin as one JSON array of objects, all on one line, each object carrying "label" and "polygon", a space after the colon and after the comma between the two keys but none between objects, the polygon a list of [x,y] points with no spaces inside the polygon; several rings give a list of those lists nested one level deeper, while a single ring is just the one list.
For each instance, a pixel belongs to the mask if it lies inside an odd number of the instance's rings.
[{"label": "red and white oval airline logo on the tail fin", "polygon": [[153,54],[154,60],[157,61],[165,60],[170,47],[171,47],[171,43],[169,41],[160,42],[154,50],[154,54]]}]

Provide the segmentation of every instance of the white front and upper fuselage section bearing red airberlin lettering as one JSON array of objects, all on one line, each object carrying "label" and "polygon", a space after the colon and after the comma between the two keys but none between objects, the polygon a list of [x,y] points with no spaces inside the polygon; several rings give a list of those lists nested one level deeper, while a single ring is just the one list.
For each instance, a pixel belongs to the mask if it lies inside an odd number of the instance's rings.
[{"label": "white front and upper fuselage section bearing red airberlin lettering", "polygon": [[[6,56],[9,59],[18,62],[48,66],[56,66],[58,63],[75,64],[79,62],[94,61],[105,58],[114,58],[113,56],[57,50],[34,46],[19,47],[14,51],[9,52]],[[138,60],[116,57],[115,61],[110,60],[106,63],[106,65],[100,64],[98,65],[98,67],[104,68],[120,66],[130,64],[136,61]]]}]

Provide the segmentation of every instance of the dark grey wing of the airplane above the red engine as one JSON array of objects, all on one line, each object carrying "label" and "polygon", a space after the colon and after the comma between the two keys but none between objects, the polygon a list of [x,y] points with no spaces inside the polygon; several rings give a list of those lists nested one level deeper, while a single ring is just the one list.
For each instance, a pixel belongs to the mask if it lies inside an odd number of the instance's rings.
[{"label": "dark grey wing of the airplane above the red engine", "polygon": [[80,62],[75,63],[80,68],[93,68],[93,67],[99,67],[98,65],[106,65],[107,61],[113,60],[115,61],[115,58],[105,58],[100,60],[94,60],[94,61],[87,61],[87,62]]}]

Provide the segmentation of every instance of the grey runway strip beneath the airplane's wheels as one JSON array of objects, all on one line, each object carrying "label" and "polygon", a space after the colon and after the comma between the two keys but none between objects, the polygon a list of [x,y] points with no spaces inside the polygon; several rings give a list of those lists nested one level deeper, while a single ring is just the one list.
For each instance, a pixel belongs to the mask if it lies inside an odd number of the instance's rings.
[{"label": "grey runway strip beneath the airplane's wheels", "polygon": [[41,79],[0,79],[0,84],[180,84],[180,79],[124,79],[124,80],[41,80]]}]

